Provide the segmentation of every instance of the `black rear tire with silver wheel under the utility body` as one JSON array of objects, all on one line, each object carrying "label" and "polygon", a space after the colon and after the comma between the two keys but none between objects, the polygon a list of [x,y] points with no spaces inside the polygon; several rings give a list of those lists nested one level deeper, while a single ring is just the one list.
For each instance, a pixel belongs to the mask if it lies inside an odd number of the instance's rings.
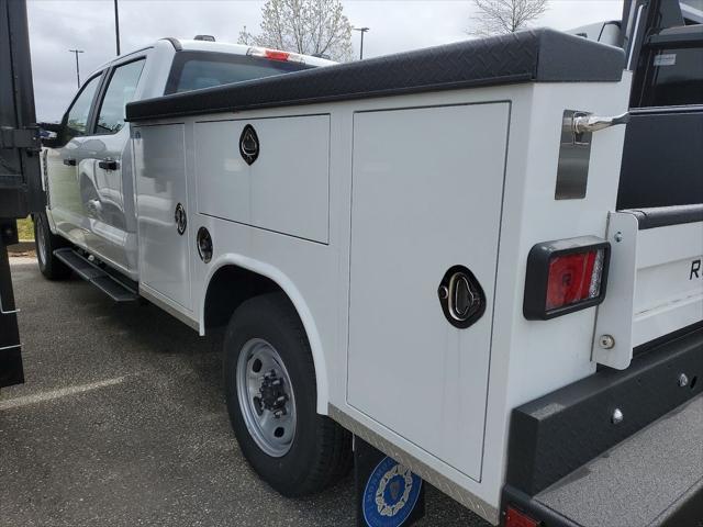
[{"label": "black rear tire with silver wheel under the utility body", "polygon": [[[266,354],[270,354],[269,348],[278,354],[282,365],[278,365],[275,357],[272,362],[268,362],[270,357],[267,358]],[[261,366],[261,360],[272,368]],[[267,391],[266,377],[259,374],[268,371],[270,380],[274,369],[277,374],[272,382],[282,380],[280,386],[287,399],[284,408],[277,411],[271,410],[271,402],[280,396],[280,392],[271,394],[270,390]],[[256,296],[235,311],[224,337],[224,374],[227,411],[242,452],[276,491],[288,497],[313,494],[349,471],[352,436],[316,412],[317,391],[310,344],[295,310],[284,294]],[[252,381],[246,380],[247,375]],[[257,403],[252,393],[256,392],[259,383],[261,390]],[[255,386],[254,392],[248,390],[252,385]],[[261,425],[252,422],[252,407],[261,410],[259,418],[268,413],[268,423],[281,425],[276,428],[276,433],[283,430],[280,439],[263,434]],[[279,413],[278,421],[275,421],[276,412]]]}]

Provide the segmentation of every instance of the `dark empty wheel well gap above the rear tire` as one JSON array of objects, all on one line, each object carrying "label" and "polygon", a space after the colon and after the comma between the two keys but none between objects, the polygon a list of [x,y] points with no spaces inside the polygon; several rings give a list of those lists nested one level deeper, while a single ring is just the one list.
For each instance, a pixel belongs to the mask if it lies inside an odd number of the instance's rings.
[{"label": "dark empty wheel well gap above the rear tire", "polygon": [[243,302],[260,294],[277,291],[284,293],[274,280],[248,269],[237,266],[224,266],[217,269],[210,280],[205,293],[205,328],[226,325],[232,313]]}]

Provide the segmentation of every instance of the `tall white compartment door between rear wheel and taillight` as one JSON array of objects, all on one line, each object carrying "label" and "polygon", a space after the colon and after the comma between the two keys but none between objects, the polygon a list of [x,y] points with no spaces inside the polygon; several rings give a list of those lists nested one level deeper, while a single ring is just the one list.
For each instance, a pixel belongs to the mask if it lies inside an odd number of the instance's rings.
[{"label": "tall white compartment door between rear wheel and taillight", "polygon": [[[480,480],[510,104],[354,117],[348,403]],[[467,267],[468,328],[437,289]]]}]

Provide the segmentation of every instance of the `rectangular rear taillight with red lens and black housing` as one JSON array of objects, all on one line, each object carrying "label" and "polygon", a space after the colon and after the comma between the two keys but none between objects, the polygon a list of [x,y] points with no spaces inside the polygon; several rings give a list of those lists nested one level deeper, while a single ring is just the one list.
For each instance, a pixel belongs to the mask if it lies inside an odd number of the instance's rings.
[{"label": "rectangular rear taillight with red lens and black housing", "polygon": [[595,236],[535,245],[527,257],[525,318],[544,321],[600,304],[610,248]]}]

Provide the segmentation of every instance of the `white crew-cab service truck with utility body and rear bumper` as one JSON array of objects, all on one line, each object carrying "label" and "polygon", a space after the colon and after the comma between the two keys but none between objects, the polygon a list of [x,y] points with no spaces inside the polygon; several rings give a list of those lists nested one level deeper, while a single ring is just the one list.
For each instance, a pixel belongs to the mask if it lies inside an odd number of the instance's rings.
[{"label": "white crew-cab service truck with utility body and rear bumper", "polygon": [[703,205],[616,208],[632,76],[549,30],[344,65],[159,41],[55,127],[40,266],[225,325],[283,495],[356,460],[359,525],[423,481],[510,527],[700,525]]}]

